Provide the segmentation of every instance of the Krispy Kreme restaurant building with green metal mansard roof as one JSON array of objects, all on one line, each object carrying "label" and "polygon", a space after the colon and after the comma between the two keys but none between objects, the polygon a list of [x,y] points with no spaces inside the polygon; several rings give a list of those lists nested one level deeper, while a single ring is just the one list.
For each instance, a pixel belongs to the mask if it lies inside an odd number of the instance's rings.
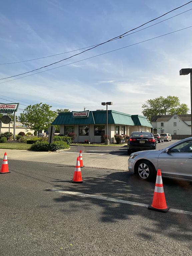
[{"label": "Krispy Kreme restaurant building with green metal mansard roof", "polygon": [[[52,125],[60,126],[60,134],[74,132],[74,142],[100,143],[101,136],[106,134],[106,110],[63,112],[59,113]],[[108,135],[110,143],[114,143],[114,135],[130,135],[132,131],[151,131],[151,123],[145,116],[130,115],[108,110]]]}]

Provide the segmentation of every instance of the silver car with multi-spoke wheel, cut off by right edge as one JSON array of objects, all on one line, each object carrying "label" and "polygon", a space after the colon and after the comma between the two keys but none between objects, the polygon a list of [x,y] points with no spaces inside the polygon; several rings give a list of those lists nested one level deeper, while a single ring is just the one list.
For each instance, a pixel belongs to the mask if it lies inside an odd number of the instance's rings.
[{"label": "silver car with multi-spoke wheel, cut off by right edge", "polygon": [[160,150],[135,152],[128,159],[128,170],[143,180],[162,176],[192,181],[192,137]]}]

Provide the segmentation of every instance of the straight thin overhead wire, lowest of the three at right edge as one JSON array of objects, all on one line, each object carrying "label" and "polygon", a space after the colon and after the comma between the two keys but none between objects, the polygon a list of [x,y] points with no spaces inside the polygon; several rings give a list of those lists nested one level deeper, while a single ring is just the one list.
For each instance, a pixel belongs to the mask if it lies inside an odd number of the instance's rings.
[{"label": "straight thin overhead wire, lowest of the three at right edge", "polygon": [[[21,76],[21,77],[18,77],[18,78],[14,78],[14,79],[11,79],[11,80],[7,80],[7,81],[4,81],[4,82],[0,82],[0,84],[7,83],[7,82],[10,82],[10,81],[14,81],[14,80],[17,80],[17,79],[20,79],[20,78],[28,77],[28,76],[33,76],[33,75],[35,75],[35,74],[43,73],[43,72],[46,72],[46,71],[49,71],[49,70],[53,70],[53,69],[56,69],[56,68],[68,66],[68,65],[70,65],[70,64],[74,64],[74,63],[81,62],[81,61],[83,61],[83,60],[89,60],[89,59],[92,59],[92,58],[95,58],[95,57],[98,57],[98,56],[101,56],[101,55],[104,55],[104,54],[107,54],[107,53],[115,52],[115,51],[118,51],[118,50],[121,50],[121,49],[130,47],[130,46],[133,46],[133,45],[141,44],[141,43],[144,43],[144,42],[147,42],[147,41],[150,41],[150,40],[153,40],[153,39],[162,37],[162,36],[170,35],[170,34],[173,34],[173,33],[175,33],[175,32],[182,31],[182,30],[184,30],[184,29],[191,28],[191,27],[192,27],[192,26],[189,26],[189,27],[186,27],[186,28],[182,28],[182,29],[179,29],[179,30],[175,30],[175,31],[172,31],[172,32],[167,33],[167,34],[164,34],[164,35],[156,36],[156,37],[153,37],[153,38],[144,40],[144,41],[140,41],[140,42],[135,43],[135,44],[130,44],[130,45],[127,45],[127,46],[124,46],[124,47],[121,47],[121,48],[118,48],[118,49],[115,49],[115,50],[112,50],[112,51],[104,52],[104,53],[101,53],[101,54],[98,54],[98,55],[95,55],[95,56],[92,56],[92,57],[89,57],[89,58],[85,58],[85,59],[82,59],[82,60],[74,61],[74,62],[65,64],[65,65],[61,65],[61,66],[58,66],[58,67],[55,67],[55,68],[46,69],[46,70],[43,70],[43,71],[40,71],[40,72],[36,72],[36,73],[30,74],[30,75]],[[32,89],[30,89],[30,90],[32,90]],[[32,91],[34,91],[34,90],[32,90]],[[57,103],[58,103],[58,102],[57,102]],[[67,104],[66,104],[66,105],[67,105]]]}]

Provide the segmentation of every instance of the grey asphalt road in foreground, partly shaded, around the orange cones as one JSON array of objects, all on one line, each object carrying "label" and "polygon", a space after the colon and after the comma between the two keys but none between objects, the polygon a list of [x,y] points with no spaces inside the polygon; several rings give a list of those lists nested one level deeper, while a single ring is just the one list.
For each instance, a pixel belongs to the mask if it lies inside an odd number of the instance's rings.
[{"label": "grey asphalt road in foreground, partly shaded, around the orange cones", "polygon": [[[0,175],[0,255],[191,255],[192,216],[52,192],[150,204],[154,183],[128,172],[9,160]],[[192,212],[192,184],[163,179],[167,205]]]}]

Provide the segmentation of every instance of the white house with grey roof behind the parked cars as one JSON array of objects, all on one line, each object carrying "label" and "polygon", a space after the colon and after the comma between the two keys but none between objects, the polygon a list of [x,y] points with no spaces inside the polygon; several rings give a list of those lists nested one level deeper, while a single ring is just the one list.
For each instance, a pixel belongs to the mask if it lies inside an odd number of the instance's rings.
[{"label": "white house with grey roof behind the parked cars", "polygon": [[153,133],[170,133],[173,135],[191,134],[191,115],[152,116]]}]

